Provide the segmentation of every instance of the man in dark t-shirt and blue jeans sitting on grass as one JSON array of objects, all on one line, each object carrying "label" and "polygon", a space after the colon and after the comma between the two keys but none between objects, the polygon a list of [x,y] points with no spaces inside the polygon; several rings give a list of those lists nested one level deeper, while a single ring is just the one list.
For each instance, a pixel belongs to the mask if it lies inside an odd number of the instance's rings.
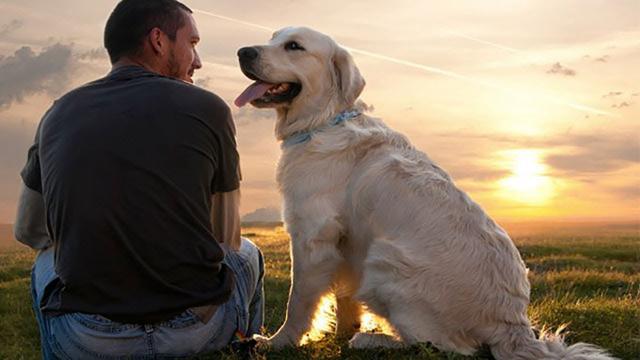
[{"label": "man in dark t-shirt and blue jeans sitting on grass", "polygon": [[112,71],[54,103],[22,171],[44,358],[176,357],[259,333],[262,255],[239,235],[230,110],[190,84],[191,10],[123,0],[104,35]]}]

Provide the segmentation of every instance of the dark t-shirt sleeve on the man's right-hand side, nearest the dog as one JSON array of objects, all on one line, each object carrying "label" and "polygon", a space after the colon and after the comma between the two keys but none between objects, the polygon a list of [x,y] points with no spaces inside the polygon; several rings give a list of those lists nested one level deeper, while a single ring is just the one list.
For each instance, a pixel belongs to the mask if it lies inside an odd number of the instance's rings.
[{"label": "dark t-shirt sleeve on the man's right-hand side, nearest the dog", "polygon": [[216,169],[211,184],[212,193],[229,192],[240,187],[240,156],[236,145],[236,129],[231,111],[226,108],[224,121],[217,129]]}]

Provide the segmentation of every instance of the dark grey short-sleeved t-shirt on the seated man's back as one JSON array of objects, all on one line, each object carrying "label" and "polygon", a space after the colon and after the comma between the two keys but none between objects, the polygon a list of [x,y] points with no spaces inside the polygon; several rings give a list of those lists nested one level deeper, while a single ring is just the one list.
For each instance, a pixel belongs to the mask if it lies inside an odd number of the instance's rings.
[{"label": "dark grey short-sleeved t-shirt on the seated man's back", "polygon": [[233,291],[210,210],[240,175],[216,95],[118,68],[54,103],[22,178],[43,194],[55,244],[43,311],[157,322]]}]

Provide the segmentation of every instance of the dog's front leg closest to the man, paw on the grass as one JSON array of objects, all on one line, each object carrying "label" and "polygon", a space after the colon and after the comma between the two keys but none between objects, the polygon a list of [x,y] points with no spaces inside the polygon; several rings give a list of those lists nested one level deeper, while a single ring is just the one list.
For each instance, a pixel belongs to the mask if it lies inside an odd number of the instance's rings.
[{"label": "dog's front leg closest to the man, paw on the grass", "polygon": [[284,324],[268,340],[274,348],[300,343],[342,262],[337,249],[340,225],[336,220],[329,219],[315,229],[308,224],[291,228],[291,289]]}]

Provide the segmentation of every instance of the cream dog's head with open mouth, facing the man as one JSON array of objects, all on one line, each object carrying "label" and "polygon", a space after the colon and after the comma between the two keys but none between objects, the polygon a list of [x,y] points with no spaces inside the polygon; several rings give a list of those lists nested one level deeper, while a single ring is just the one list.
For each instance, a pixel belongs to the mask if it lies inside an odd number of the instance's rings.
[{"label": "cream dog's head with open mouth, facing the man", "polygon": [[238,57],[242,72],[255,80],[236,99],[238,106],[249,102],[296,116],[343,110],[353,105],[365,84],[345,49],[308,28],[279,30],[268,45],[243,47]]}]

